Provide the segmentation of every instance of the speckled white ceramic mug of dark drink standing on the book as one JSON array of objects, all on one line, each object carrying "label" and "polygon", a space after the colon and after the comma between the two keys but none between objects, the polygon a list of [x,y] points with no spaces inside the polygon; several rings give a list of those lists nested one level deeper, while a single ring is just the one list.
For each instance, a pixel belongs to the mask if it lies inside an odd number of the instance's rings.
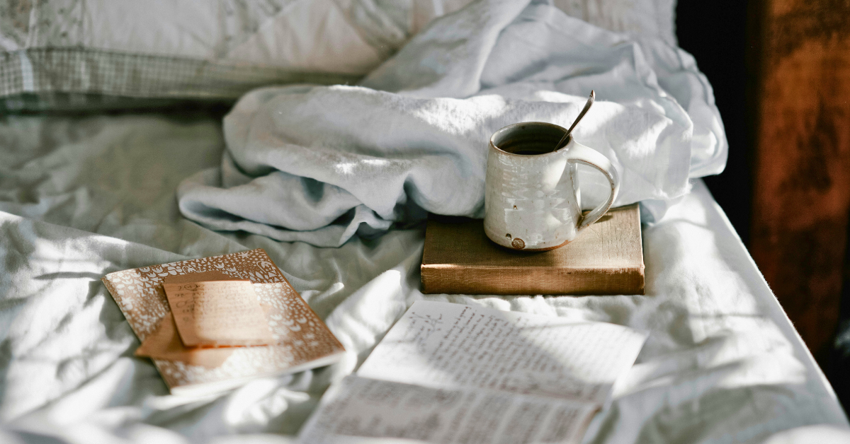
[{"label": "speckled white ceramic mug of dark drink standing on the book", "polygon": [[[543,122],[505,126],[490,138],[484,191],[484,232],[514,250],[553,250],[575,239],[614,202],[620,179],[610,160],[572,135],[553,151],[566,130]],[[604,204],[581,215],[576,164],[602,171],[611,184]]]}]

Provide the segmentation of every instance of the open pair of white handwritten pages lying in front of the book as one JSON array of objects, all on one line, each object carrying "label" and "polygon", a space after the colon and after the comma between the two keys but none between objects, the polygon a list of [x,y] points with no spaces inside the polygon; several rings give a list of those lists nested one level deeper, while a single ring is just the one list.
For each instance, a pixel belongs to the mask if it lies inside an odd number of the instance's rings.
[{"label": "open pair of white handwritten pages lying in front of the book", "polygon": [[416,301],[302,442],[580,442],[646,335],[612,323]]}]

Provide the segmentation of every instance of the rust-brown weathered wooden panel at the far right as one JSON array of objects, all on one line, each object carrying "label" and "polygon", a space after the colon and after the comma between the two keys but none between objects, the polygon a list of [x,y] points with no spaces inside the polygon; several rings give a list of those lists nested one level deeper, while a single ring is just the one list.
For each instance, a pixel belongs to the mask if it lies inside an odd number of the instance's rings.
[{"label": "rust-brown weathered wooden panel at the far right", "polygon": [[751,253],[821,356],[836,331],[850,208],[850,3],[764,0],[752,14],[762,51]]}]

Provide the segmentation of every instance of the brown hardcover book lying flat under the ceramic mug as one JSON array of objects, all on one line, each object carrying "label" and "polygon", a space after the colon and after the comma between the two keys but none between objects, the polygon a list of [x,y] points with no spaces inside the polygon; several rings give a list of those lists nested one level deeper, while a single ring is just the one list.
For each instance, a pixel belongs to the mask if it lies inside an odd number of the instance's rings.
[{"label": "brown hardcover book lying flat under the ceramic mug", "polygon": [[422,293],[643,295],[643,273],[638,204],[612,208],[570,244],[538,252],[495,244],[481,220],[433,217]]}]

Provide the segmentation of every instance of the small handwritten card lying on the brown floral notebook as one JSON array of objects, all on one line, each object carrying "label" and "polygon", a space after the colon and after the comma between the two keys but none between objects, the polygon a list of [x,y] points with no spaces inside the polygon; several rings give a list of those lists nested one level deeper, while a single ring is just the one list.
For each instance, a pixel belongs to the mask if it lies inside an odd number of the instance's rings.
[{"label": "small handwritten card lying on the brown floral notebook", "polygon": [[185,346],[275,342],[251,281],[165,283],[163,287]]}]

